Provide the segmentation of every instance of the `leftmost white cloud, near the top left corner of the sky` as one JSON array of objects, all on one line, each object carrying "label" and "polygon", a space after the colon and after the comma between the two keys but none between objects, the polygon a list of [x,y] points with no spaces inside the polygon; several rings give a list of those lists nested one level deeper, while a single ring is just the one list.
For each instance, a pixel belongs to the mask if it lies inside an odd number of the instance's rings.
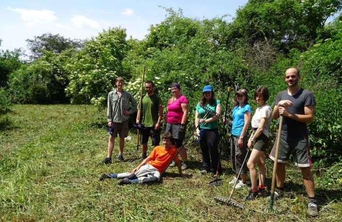
[{"label": "leftmost white cloud, near the top left corner of the sky", "polygon": [[28,10],[11,7],[7,7],[7,9],[18,12],[20,18],[25,21],[29,27],[36,26],[37,24],[50,24],[54,20],[57,20],[57,17],[54,16],[54,11],[50,10]]}]

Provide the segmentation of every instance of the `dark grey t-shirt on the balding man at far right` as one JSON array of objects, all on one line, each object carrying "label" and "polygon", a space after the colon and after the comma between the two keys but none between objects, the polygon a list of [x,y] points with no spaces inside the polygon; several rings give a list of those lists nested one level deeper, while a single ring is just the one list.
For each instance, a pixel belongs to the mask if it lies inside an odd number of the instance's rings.
[{"label": "dark grey t-shirt on the balding man at far right", "polygon": [[[273,105],[278,105],[281,100],[290,100],[293,104],[292,107],[286,107],[290,113],[305,114],[304,107],[316,105],[315,97],[309,90],[301,88],[299,92],[294,95],[289,95],[288,90],[281,91],[275,97]],[[284,117],[282,134],[287,136],[302,137],[307,136],[306,123],[298,122],[294,119]]]}]

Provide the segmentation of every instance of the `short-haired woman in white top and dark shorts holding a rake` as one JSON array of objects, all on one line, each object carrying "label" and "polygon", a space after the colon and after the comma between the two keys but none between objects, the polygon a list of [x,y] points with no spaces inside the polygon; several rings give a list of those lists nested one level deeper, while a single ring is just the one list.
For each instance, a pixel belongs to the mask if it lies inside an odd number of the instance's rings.
[{"label": "short-haired woman in white top and dark shorts holding a rake", "polygon": [[[246,200],[254,200],[258,193],[265,191],[265,151],[269,145],[270,124],[272,121],[272,108],[267,104],[270,94],[266,87],[259,87],[254,92],[254,101],[258,108],[252,117],[252,135],[248,141],[248,148],[253,148],[247,167],[250,170],[252,187]],[[255,165],[259,168],[259,185]]]}]

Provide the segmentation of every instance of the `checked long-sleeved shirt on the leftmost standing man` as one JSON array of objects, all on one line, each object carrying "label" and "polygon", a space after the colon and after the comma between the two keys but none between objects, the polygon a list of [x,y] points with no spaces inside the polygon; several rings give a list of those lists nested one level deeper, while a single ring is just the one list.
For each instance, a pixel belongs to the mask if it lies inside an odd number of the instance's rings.
[{"label": "checked long-sleeved shirt on the leftmost standing man", "polygon": [[121,92],[121,96],[118,95],[116,90],[109,92],[107,109],[108,122],[122,123],[128,120],[129,115],[124,115],[125,110],[130,113],[137,111],[137,101],[132,94],[125,90]]}]

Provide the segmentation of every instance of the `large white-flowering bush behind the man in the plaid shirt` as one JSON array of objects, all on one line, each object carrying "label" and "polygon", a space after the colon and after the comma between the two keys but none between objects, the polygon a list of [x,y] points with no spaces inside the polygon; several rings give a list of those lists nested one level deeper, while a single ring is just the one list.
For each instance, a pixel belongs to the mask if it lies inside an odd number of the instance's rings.
[{"label": "large white-flowering bush behind the man in the plaid shirt", "polygon": [[117,76],[130,79],[123,68],[127,55],[126,29],[108,28],[85,42],[82,50],[66,65],[70,84],[66,92],[73,104],[90,103],[104,106]]}]

